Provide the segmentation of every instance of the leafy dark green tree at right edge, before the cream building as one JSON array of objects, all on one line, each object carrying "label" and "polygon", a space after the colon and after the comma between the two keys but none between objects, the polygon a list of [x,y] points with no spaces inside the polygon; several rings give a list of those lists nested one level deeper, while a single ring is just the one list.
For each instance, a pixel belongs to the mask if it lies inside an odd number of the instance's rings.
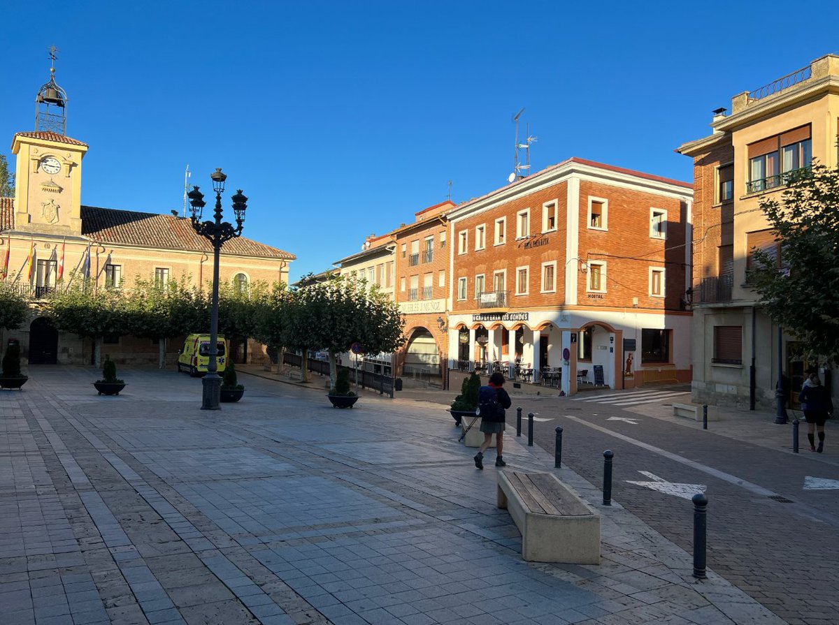
[{"label": "leafy dark green tree at right edge, before the cream building", "polygon": [[[780,254],[754,251],[749,273],[758,304],[800,340],[804,356],[839,362],[839,172],[823,165],[789,180],[781,200],[760,208]],[[779,259],[778,259],[779,256]]]}]

